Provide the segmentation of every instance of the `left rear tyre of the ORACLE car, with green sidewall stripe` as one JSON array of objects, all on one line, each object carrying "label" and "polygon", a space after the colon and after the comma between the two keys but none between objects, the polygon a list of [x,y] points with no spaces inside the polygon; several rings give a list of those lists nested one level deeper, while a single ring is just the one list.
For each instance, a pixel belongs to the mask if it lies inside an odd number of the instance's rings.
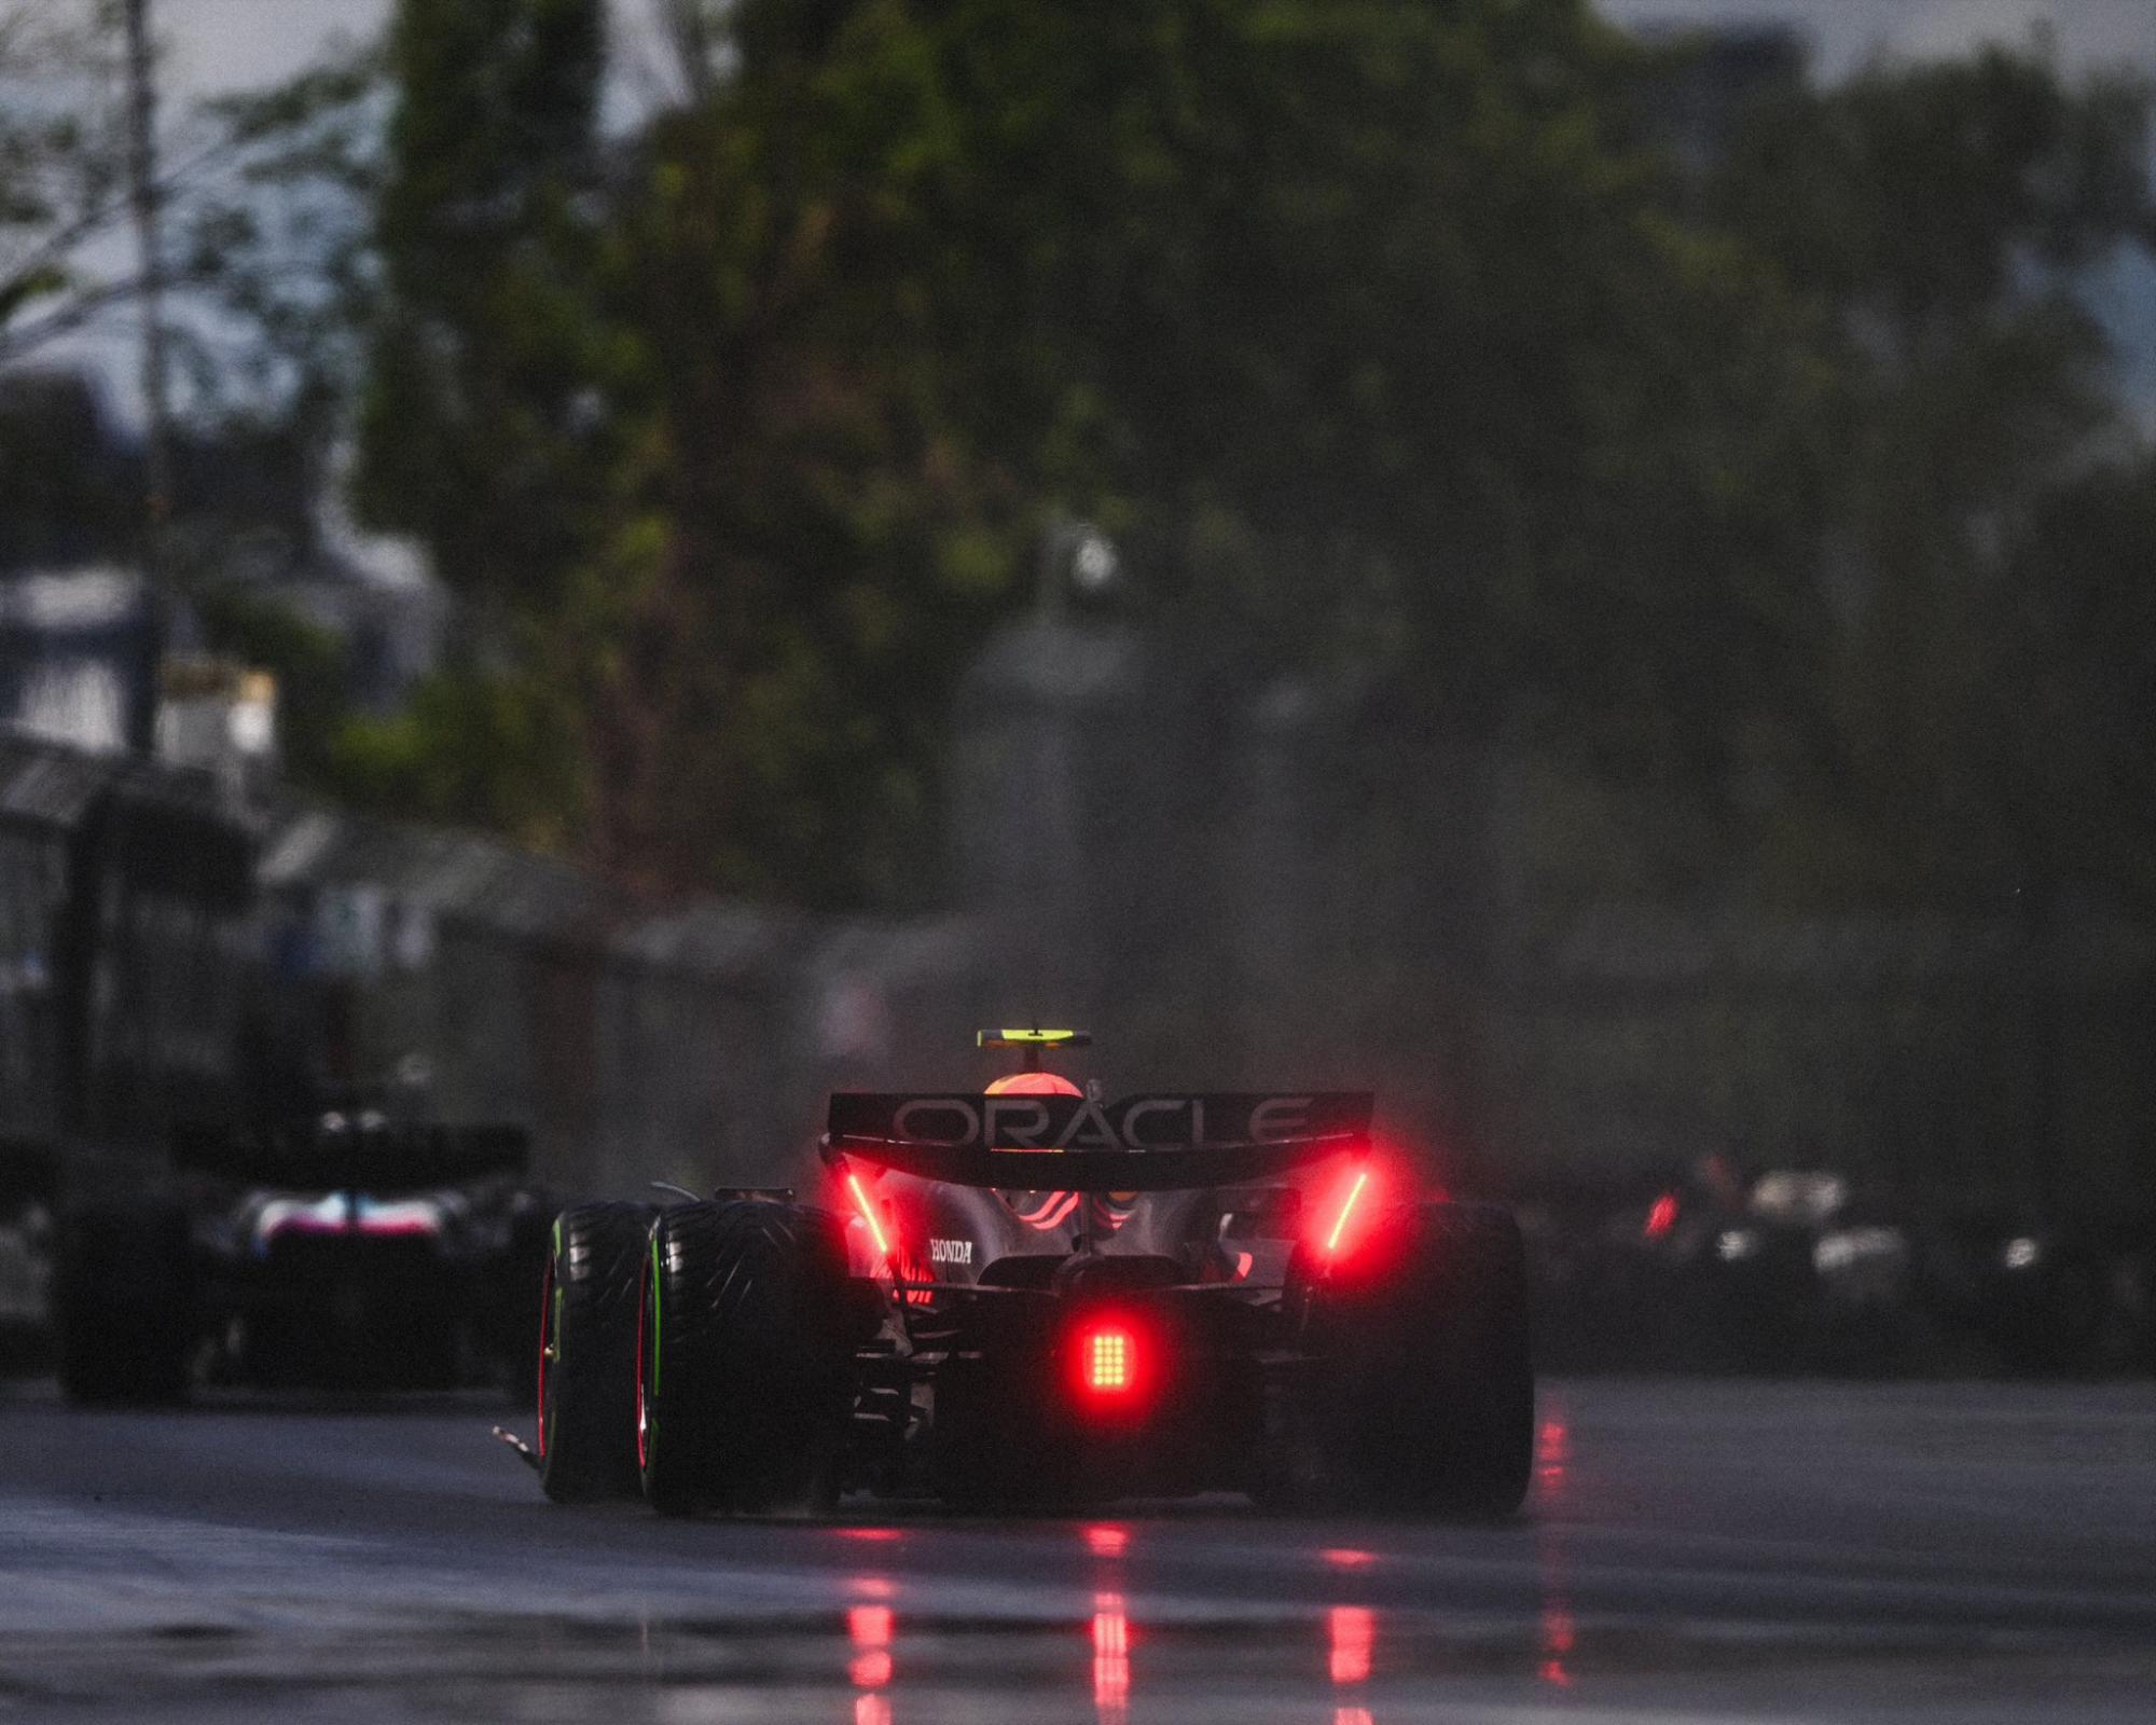
[{"label": "left rear tyre of the ORACLE car, with green sidewall stripe", "polygon": [[852,1414],[845,1227],[761,1199],[660,1214],[645,1261],[638,1443],[660,1514],[815,1505]]}]

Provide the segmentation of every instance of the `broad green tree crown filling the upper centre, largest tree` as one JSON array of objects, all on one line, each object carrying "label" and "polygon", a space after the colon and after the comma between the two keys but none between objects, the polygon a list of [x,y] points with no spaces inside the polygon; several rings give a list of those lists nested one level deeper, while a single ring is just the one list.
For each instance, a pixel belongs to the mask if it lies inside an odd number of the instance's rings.
[{"label": "broad green tree crown filling the upper centre, largest tree", "polygon": [[929,852],[955,668],[1056,511],[1253,668],[1352,660],[1451,735],[1524,707],[1718,770],[1792,690],[1813,347],[1675,220],[1585,6],[731,28],[617,233],[653,427],[619,854],[899,891],[862,869]]}]

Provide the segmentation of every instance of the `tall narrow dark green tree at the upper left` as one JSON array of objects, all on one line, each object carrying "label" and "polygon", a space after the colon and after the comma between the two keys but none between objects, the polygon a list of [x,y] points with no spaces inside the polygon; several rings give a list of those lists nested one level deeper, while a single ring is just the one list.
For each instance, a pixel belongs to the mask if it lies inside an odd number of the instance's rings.
[{"label": "tall narrow dark green tree at the upper left", "polygon": [[373,205],[360,507],[481,615],[545,612],[589,550],[597,0],[405,0]]}]

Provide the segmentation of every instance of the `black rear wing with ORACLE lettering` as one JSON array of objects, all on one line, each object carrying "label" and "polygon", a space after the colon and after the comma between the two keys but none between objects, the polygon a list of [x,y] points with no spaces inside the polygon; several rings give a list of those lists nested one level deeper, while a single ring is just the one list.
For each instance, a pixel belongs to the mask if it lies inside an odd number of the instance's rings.
[{"label": "black rear wing with ORACLE lettering", "polygon": [[824,1156],[921,1179],[1059,1192],[1177,1192],[1270,1179],[1369,1147],[1369,1091],[1205,1095],[837,1093]]}]

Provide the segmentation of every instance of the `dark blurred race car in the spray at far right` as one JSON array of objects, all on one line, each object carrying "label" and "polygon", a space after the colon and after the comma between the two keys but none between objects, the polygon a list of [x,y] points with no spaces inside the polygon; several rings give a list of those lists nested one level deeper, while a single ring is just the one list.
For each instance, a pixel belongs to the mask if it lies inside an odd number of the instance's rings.
[{"label": "dark blurred race car in the spray at far right", "polygon": [[1723,1158],[1522,1205],[1546,1354],[1565,1369],[1988,1376],[2156,1363],[2156,1225],[1912,1199]]}]

